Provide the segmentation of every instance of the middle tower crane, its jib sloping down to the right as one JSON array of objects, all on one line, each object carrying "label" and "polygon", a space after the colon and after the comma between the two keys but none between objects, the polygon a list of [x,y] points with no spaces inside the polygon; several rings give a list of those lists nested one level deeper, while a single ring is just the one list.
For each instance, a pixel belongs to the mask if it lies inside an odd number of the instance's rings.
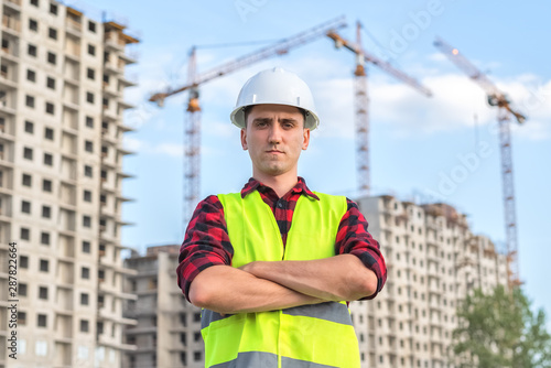
[{"label": "middle tower crane, its jib sloping down to the right", "polygon": [[370,192],[370,173],[369,173],[369,116],[368,105],[369,96],[367,94],[367,74],[366,62],[376,65],[395,78],[415,88],[421,94],[430,97],[432,93],[422,86],[419,82],[408,76],[403,72],[398,71],[389,63],[376,57],[361,47],[361,23],[357,22],[356,43],[353,43],[336,31],[327,33],[327,36],[335,42],[335,47],[345,47],[356,55],[356,69],[354,72],[354,90],[355,90],[355,126],[356,126],[356,170],[358,191],[369,195]]}]

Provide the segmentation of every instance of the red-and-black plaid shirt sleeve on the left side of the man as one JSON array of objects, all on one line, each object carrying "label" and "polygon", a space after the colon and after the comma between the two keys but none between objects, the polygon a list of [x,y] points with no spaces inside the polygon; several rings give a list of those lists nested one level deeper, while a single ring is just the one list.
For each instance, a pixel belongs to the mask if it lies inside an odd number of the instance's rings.
[{"label": "red-and-black plaid shirt sleeve on the left side of the man", "polygon": [[177,284],[187,301],[190,285],[201,271],[215,264],[229,266],[233,257],[224,207],[217,196],[208,196],[195,208],[180,247]]}]

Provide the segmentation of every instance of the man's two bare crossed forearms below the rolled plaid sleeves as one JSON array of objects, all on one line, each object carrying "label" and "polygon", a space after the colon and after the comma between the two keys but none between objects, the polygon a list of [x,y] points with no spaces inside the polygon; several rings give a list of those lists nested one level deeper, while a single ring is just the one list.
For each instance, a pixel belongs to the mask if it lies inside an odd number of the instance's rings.
[{"label": "man's two bare crossed forearms below the rolled plaid sleeves", "polygon": [[354,255],[312,261],[212,266],[196,275],[190,301],[218,313],[264,312],[374,294],[376,274]]}]

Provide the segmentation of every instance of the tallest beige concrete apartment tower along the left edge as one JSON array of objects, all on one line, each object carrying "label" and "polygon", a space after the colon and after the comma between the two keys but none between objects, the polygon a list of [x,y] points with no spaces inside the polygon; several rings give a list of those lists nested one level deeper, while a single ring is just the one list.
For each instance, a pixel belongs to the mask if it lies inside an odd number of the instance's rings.
[{"label": "tallest beige concrete apartment tower along the left edge", "polygon": [[[0,1],[0,367],[118,367],[123,90],[138,40],[53,0]],[[18,359],[8,356],[9,242]]]}]

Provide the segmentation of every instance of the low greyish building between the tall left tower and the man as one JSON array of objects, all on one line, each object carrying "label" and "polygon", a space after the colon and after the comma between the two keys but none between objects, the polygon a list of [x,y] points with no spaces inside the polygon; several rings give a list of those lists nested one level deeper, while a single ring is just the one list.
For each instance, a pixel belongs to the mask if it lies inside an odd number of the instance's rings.
[{"label": "low greyish building between the tall left tower and the man", "polygon": [[145,256],[133,253],[126,266],[136,270],[127,279],[125,316],[138,321],[126,328],[126,344],[136,345],[125,368],[204,367],[201,309],[190,304],[176,284],[180,246],[150,247]]}]

